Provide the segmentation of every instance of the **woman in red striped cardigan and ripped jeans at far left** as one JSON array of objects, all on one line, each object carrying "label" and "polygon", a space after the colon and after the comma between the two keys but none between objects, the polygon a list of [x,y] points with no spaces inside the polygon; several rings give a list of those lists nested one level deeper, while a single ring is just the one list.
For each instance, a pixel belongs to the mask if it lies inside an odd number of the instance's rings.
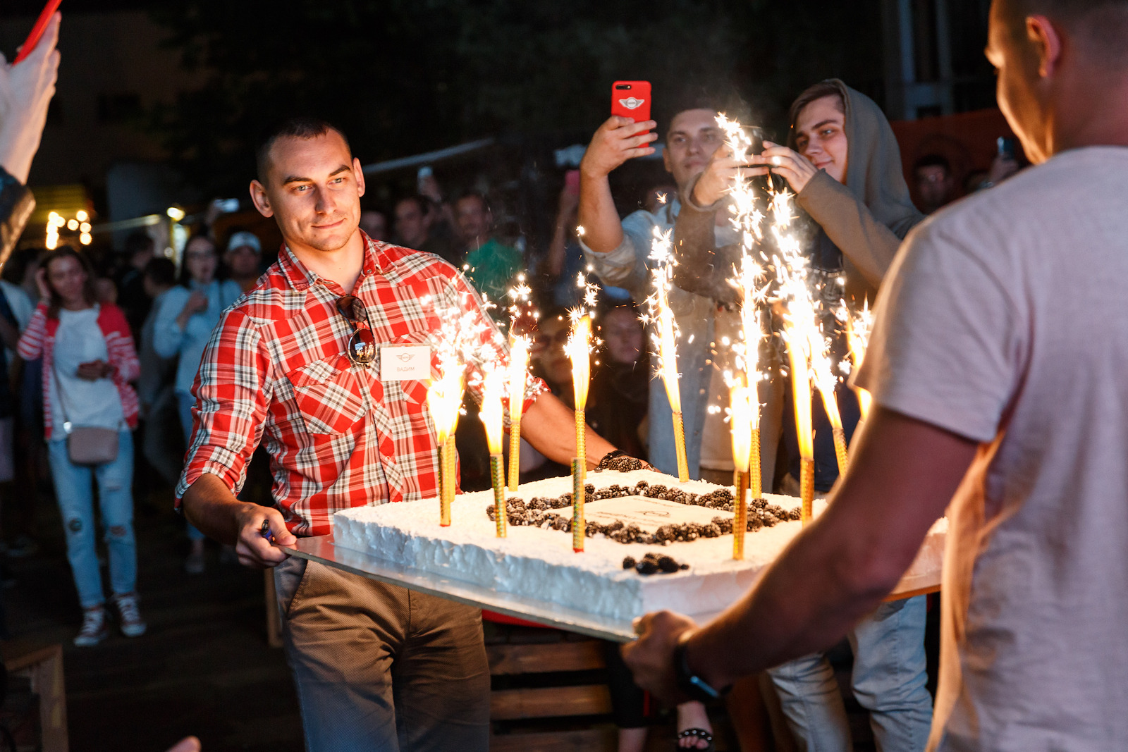
[{"label": "woman in red striped cardigan and ripped jeans at far left", "polygon": [[[138,610],[131,489],[138,396],[129,382],[138,378],[140,364],[129,322],[113,303],[97,302],[89,260],[70,248],[49,254],[36,281],[39,304],[18,350],[24,360],[43,357],[47,457],[67,529],[67,558],[85,612],[74,644],[95,645],[108,634],[94,540],[94,481],[120,627],[125,636],[135,637],[144,632],[146,623]],[[76,426],[116,431],[116,459],[92,466],[72,462],[68,435]]]}]

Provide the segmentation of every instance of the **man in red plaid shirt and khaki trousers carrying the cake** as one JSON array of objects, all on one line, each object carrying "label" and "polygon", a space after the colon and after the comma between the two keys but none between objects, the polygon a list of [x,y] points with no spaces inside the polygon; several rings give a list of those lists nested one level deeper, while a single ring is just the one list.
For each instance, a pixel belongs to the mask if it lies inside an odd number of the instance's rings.
[{"label": "man in red plaid shirt and khaki trousers carrying the cake", "polygon": [[[236,545],[240,561],[275,567],[307,750],[486,750],[490,673],[477,609],[279,548],[328,533],[338,510],[435,496],[431,374],[381,378],[382,360],[422,345],[434,369],[438,347],[457,338],[481,399],[483,364],[509,357],[455,267],[358,229],[363,193],[360,161],[332,125],[291,121],[263,141],[250,195],[285,245],[204,352],[177,497],[194,525]],[[534,446],[567,462],[573,421],[529,379],[522,435]],[[279,508],[235,496],[259,441]],[[613,450],[589,430],[589,467]]]}]

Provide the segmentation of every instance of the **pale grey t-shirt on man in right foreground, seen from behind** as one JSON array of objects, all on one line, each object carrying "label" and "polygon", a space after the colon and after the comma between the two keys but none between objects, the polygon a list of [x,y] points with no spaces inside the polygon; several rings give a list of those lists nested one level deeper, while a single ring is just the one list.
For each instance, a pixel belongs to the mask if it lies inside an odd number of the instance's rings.
[{"label": "pale grey t-shirt on man in right foreground, seen from behind", "polygon": [[931,749],[1128,743],[1128,148],[907,238],[858,386],[981,442],[949,508]]}]

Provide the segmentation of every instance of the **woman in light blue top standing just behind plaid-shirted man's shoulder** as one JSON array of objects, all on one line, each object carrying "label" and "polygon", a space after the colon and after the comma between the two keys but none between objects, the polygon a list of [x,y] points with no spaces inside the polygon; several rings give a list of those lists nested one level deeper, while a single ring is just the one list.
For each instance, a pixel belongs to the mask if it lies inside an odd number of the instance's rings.
[{"label": "woman in light blue top standing just behind plaid-shirted man's shoulder", "polygon": [[[219,281],[219,255],[211,238],[197,235],[184,247],[180,284],[165,293],[153,325],[153,348],[161,357],[179,356],[176,366],[176,400],[184,428],[184,442],[192,442],[192,384],[200,359],[223,311],[243,290],[231,280]],[[185,561],[190,574],[204,570],[204,534],[188,525],[192,552]]]}]

